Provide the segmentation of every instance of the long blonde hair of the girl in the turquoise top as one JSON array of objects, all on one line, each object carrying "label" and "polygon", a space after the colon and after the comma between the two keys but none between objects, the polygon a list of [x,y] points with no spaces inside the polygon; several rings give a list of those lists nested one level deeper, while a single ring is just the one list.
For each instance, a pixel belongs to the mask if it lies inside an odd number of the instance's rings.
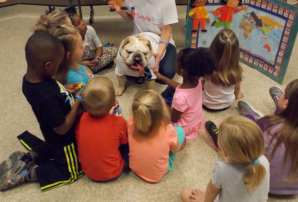
[{"label": "long blonde hair of the girl in the turquoise top", "polygon": [[[71,56],[74,53],[76,43],[80,37],[80,31],[70,25],[61,25],[58,26],[52,34],[58,37],[63,43],[65,54],[62,63],[59,65],[57,73],[54,75],[54,78],[62,85],[66,85],[68,72],[72,69],[71,67],[73,65],[73,61],[71,59],[67,59],[67,54],[70,53]],[[77,62],[80,63],[80,61]],[[85,68],[90,74],[93,74],[88,67]]]}]

